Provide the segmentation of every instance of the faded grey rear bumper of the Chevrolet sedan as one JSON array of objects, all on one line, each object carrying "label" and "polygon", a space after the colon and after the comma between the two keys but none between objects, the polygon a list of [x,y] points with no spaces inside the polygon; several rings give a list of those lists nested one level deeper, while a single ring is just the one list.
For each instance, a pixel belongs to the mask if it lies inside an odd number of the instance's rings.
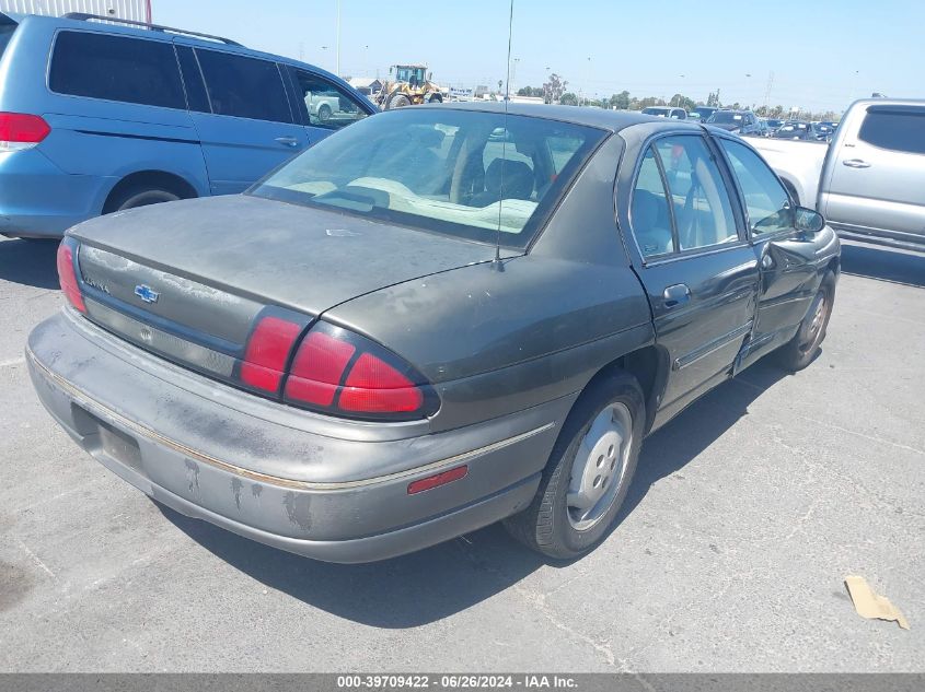
[{"label": "faded grey rear bumper of the Chevrolet sedan", "polygon": [[[66,310],[30,336],[33,384],[106,468],[183,514],[332,562],[412,552],[524,508],[571,398],[439,434],[345,423],[154,359]],[[293,425],[293,423],[296,423]],[[407,435],[407,436],[403,436]],[[465,464],[415,495],[408,483]]]}]

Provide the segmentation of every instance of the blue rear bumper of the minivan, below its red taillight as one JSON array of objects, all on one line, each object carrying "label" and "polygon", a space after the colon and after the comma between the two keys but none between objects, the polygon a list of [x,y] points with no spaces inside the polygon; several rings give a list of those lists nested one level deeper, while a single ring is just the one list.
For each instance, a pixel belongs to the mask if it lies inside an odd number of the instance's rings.
[{"label": "blue rear bumper of the minivan, below its red taillight", "polygon": [[100,214],[115,178],[68,175],[38,149],[0,154],[0,233],[61,237]]}]

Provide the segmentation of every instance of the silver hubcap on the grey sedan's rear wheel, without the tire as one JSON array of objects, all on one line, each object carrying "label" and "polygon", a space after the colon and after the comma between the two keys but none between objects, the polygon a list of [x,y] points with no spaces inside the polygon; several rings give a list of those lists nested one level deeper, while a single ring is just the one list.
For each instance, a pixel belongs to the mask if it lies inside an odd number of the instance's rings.
[{"label": "silver hubcap on the grey sedan's rear wheel, without the tire", "polygon": [[633,415],[623,403],[611,403],[591,423],[581,439],[566,504],[571,526],[585,531],[608,513],[626,477],[633,446]]}]

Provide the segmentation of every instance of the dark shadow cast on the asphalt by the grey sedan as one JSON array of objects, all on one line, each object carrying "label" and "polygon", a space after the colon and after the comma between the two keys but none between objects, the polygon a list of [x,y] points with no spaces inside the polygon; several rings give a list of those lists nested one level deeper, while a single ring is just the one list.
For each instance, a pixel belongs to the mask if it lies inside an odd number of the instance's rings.
[{"label": "dark shadow cast on the asphalt by the grey sedan", "polygon": [[[748,414],[752,401],[785,375],[773,364],[759,363],[740,376],[744,382],[719,386],[648,438],[618,523],[652,484],[713,444]],[[435,622],[504,591],[543,565],[567,564],[523,548],[500,525],[384,562],[327,564],[157,506],[195,541],[267,587],[377,628],[404,629]]]}]

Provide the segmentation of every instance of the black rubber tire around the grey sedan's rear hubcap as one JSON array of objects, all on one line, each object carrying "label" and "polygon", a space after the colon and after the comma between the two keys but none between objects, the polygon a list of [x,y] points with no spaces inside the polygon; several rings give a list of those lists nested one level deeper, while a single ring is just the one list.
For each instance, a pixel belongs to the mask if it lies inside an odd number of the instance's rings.
[{"label": "black rubber tire around the grey sedan's rear hubcap", "polygon": [[[558,560],[571,560],[591,551],[608,535],[633,481],[646,419],[645,398],[636,378],[616,371],[586,389],[568,414],[543,471],[530,506],[505,519],[508,532],[529,548]],[[581,442],[592,423],[609,407],[623,404],[633,431],[620,486],[600,518],[579,530],[569,516],[567,493]],[[599,464],[600,466],[600,464]],[[611,467],[613,468],[613,467]],[[600,477],[599,477],[600,478]]]}]

